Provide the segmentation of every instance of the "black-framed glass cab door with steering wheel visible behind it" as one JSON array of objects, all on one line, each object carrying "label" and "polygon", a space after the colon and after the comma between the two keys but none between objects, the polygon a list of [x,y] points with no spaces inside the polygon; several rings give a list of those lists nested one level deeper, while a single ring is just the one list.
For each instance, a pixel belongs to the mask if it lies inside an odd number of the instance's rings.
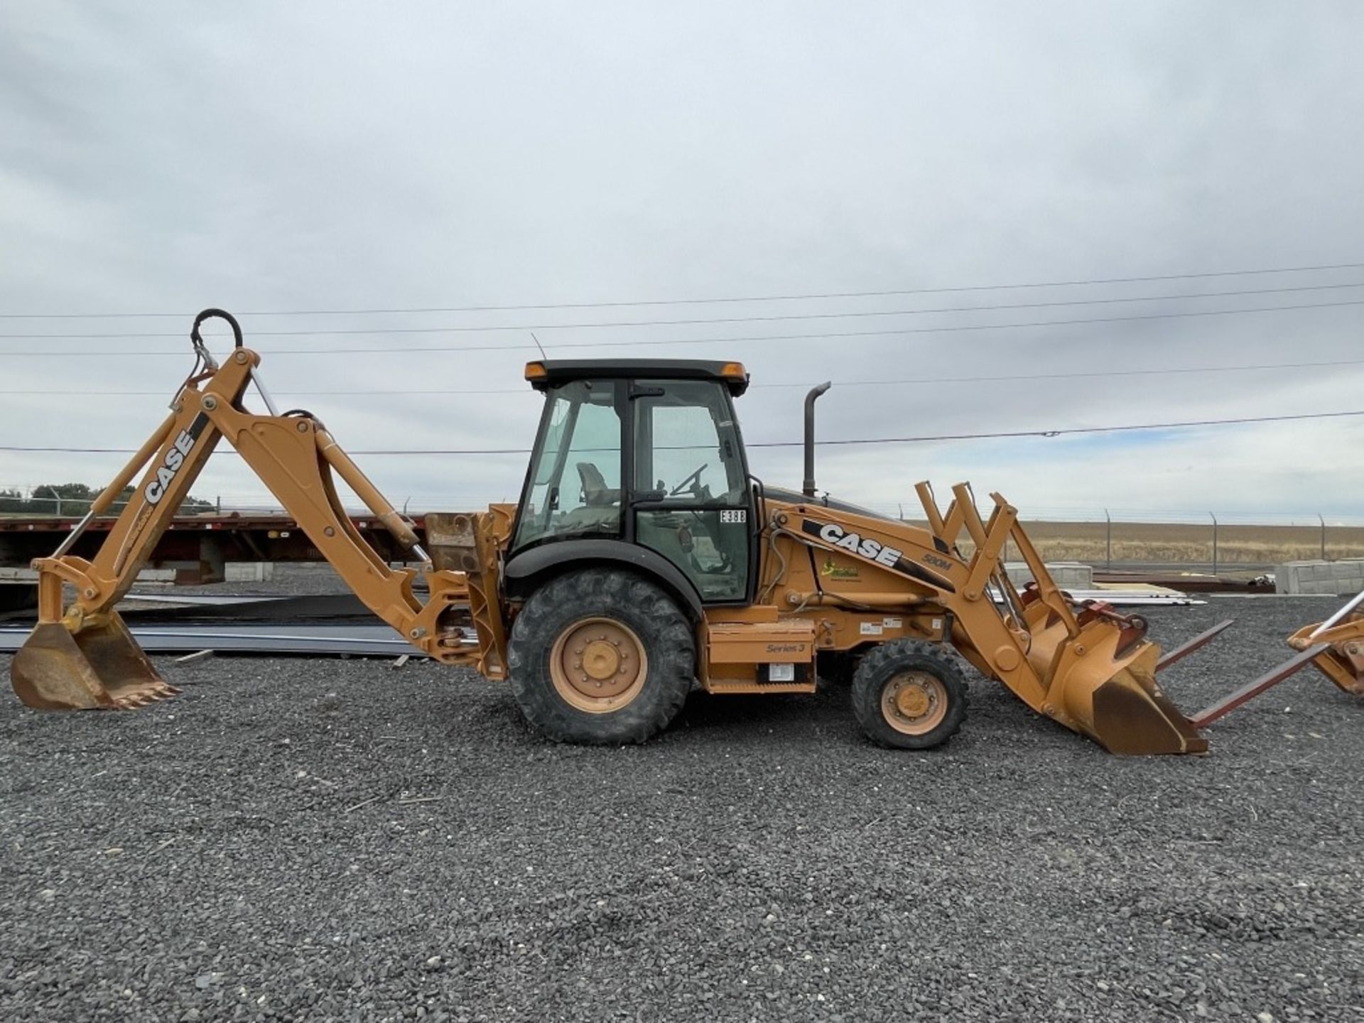
[{"label": "black-framed glass cab door with steering wheel visible behind it", "polygon": [[636,381],[633,539],[692,580],[704,603],[749,599],[753,501],[734,405],[713,381]]}]

